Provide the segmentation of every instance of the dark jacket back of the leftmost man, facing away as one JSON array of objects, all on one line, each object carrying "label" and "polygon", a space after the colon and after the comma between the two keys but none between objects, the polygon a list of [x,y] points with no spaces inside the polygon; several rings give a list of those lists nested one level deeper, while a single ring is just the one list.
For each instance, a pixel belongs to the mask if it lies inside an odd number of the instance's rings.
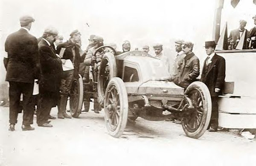
[{"label": "dark jacket back of the leftmost man, facing away", "polygon": [[33,83],[40,75],[37,39],[25,29],[10,34],[5,42],[8,53],[6,81]]}]

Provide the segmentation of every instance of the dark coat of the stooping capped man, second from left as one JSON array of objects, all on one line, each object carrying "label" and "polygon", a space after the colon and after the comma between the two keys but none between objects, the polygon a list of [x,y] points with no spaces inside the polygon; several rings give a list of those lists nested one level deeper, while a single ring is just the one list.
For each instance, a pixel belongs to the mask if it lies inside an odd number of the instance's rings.
[{"label": "dark coat of the stooping capped man, second from left", "polygon": [[41,92],[58,92],[61,82],[62,63],[55,55],[52,46],[44,39],[38,43],[39,57],[41,63],[41,80],[39,87]]}]

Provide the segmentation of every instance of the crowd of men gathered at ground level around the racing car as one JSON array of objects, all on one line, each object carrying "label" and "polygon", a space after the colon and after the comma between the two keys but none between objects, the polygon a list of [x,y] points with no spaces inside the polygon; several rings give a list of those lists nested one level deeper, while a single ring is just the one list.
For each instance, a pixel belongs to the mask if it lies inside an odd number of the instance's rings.
[{"label": "crowd of men gathered at ground level around the racing car", "polygon": [[[35,102],[32,96],[34,80],[39,80],[39,99],[37,124],[39,127],[52,127],[49,119],[55,119],[50,115],[52,107],[58,107],[58,118],[71,118],[66,112],[68,96],[73,80],[82,75],[84,82],[90,81],[90,67],[101,61],[102,55],[96,49],[103,45],[103,38],[91,35],[86,51],[81,51],[81,34],[78,30],[70,33],[70,39],[63,42],[63,37],[58,31],[49,27],[39,39],[29,34],[32,22],[31,16],[20,17],[21,28],[19,31],[10,34],[5,43],[5,50],[8,53],[8,64],[6,65],[6,81],[9,82],[10,131],[15,130],[17,123],[20,95],[23,94],[23,123],[22,130],[34,130],[33,114]],[[111,46],[116,49],[115,44]],[[174,65],[170,65],[167,55],[163,54],[163,45],[153,46],[155,57],[160,59],[173,73],[170,79],[180,87],[189,86],[200,74],[200,62],[193,53],[193,43],[177,40],[175,50],[177,56]],[[204,61],[201,82],[209,88],[212,96],[212,117],[210,131],[217,131],[218,127],[218,95],[221,94],[225,79],[225,59],[215,54],[215,42],[205,42],[207,58]],[[131,43],[124,41],[121,54],[131,50]],[[138,50],[138,48],[137,48]],[[142,48],[146,53],[149,46]],[[96,53],[96,56],[93,56]],[[73,63],[73,70],[63,70],[67,60]],[[84,111],[89,111],[90,95],[84,96]],[[94,96],[94,112],[99,113],[101,107]]]}]

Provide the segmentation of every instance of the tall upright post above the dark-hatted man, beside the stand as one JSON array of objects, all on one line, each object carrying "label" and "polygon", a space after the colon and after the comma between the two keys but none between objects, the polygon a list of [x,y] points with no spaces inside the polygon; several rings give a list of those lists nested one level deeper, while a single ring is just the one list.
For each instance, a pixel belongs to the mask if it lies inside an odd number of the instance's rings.
[{"label": "tall upright post above the dark-hatted man, beside the stand", "polygon": [[212,38],[215,42],[218,42],[221,31],[221,11],[223,8],[224,0],[216,0],[216,8],[214,14],[214,22],[213,22],[213,35]]}]

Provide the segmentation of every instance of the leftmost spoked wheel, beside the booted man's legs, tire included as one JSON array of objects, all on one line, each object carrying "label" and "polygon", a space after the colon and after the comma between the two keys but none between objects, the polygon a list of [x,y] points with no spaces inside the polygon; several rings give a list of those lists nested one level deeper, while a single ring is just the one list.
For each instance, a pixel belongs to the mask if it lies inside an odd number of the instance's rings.
[{"label": "leftmost spoked wheel, beside the booted man's legs, tire included", "polygon": [[70,92],[70,114],[74,118],[78,118],[78,116],[81,114],[83,92],[83,80],[81,75],[79,75],[79,78],[74,80]]}]

